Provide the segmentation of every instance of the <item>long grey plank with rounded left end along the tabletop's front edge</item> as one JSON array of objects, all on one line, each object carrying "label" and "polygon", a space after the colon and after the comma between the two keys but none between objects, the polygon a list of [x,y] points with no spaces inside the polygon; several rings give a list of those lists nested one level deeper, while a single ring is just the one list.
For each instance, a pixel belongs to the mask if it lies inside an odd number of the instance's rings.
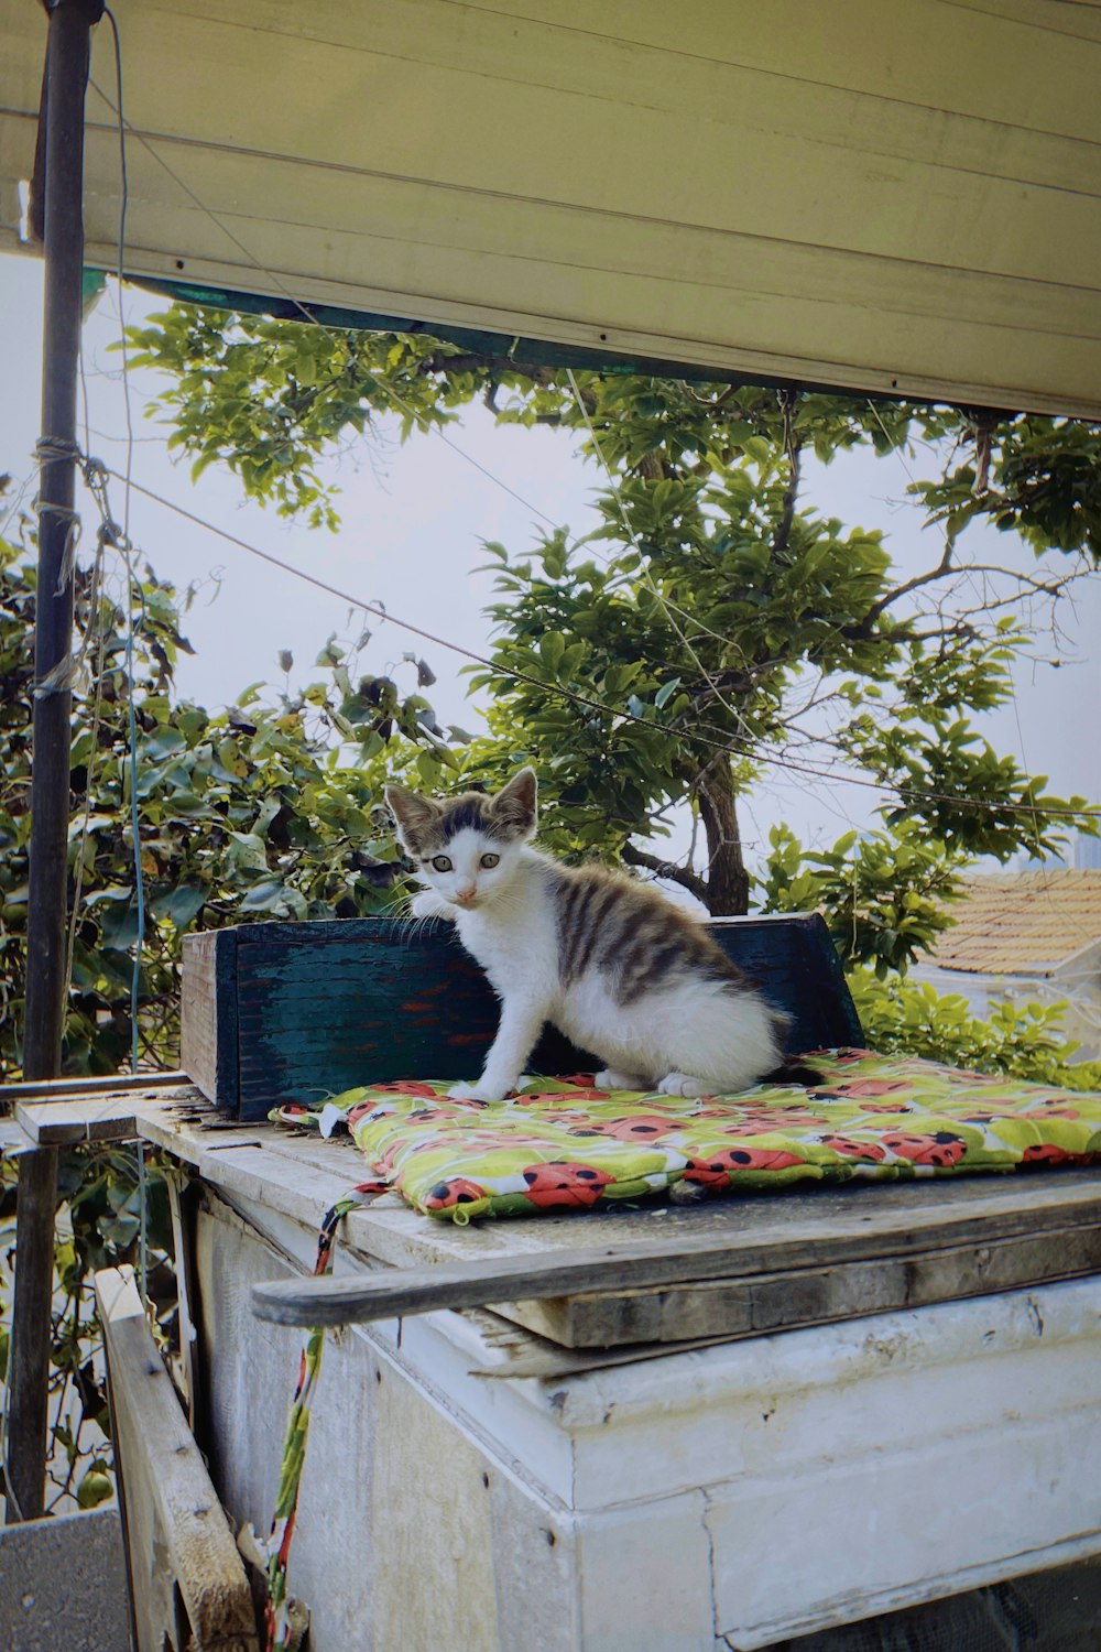
[{"label": "long grey plank with rounded left end along the tabletop's front edge", "polygon": [[[1066,1203],[1055,1229],[1088,1227],[1101,1222],[1101,1183],[1081,1189]],[[1051,1229],[1043,1229],[1050,1232]],[[956,1246],[990,1247],[999,1241],[1040,1237],[1032,1211],[1015,1201],[987,1206],[982,1216],[966,1208],[954,1213],[928,1211],[923,1218],[905,1208],[881,1216],[875,1232],[850,1227],[824,1234],[814,1224],[792,1222],[773,1244],[730,1236],[652,1242],[631,1251],[607,1246],[581,1249],[568,1257],[528,1256],[518,1260],[444,1264],[398,1269],[375,1279],[281,1280],[258,1285],[253,1312],[279,1325],[347,1325],[428,1313],[432,1308],[475,1308],[499,1302],[546,1300],[589,1292],[624,1292],[697,1280],[753,1279],[806,1269],[829,1270],[847,1262],[885,1257],[903,1259]],[[1058,1247],[1056,1247],[1058,1251]],[[1028,1259],[1035,1265],[1035,1257]],[[971,1262],[972,1275],[981,1260]],[[997,1285],[995,1289],[1005,1289]]]}]

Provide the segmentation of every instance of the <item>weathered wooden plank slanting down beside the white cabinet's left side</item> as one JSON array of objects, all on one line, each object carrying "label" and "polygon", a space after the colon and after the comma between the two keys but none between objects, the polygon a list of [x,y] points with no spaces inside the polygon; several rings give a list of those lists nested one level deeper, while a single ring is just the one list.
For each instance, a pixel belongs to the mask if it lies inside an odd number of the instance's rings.
[{"label": "weathered wooden plank slanting down beside the white cabinet's left side", "polygon": [[244,1566],[145,1322],[134,1270],[96,1274],[96,1300],[107,1350],[137,1652],[163,1652],[165,1645],[258,1652]]}]

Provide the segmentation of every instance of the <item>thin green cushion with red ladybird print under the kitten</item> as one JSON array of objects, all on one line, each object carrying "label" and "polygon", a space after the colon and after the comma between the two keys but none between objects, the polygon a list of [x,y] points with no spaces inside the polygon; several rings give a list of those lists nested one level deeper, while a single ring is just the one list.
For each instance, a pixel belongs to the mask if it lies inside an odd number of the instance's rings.
[{"label": "thin green cushion with red ladybird print under the kitten", "polygon": [[802,1057],[809,1087],[700,1100],[528,1079],[512,1102],[454,1102],[447,1084],[380,1084],[282,1123],[347,1123],[385,1184],[429,1216],[532,1216],[664,1193],[759,1191],[853,1176],[1101,1161],[1101,1095],[992,1079],[863,1049]]}]

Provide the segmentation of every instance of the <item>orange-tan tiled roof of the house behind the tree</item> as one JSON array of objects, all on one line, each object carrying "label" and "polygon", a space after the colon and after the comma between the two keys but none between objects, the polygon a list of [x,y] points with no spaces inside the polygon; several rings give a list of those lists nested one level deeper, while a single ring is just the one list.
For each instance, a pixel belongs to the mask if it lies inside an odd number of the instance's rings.
[{"label": "orange-tan tiled roof of the house behind the tree", "polygon": [[1070,867],[972,877],[928,961],[976,975],[1050,973],[1101,940],[1101,872]]}]

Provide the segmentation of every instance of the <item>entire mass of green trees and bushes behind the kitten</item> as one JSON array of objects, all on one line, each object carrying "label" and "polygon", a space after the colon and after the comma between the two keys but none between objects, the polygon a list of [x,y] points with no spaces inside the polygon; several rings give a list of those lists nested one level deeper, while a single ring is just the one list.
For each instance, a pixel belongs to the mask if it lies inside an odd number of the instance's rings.
[{"label": "entire mass of green trees and bushes behind the kitten", "polygon": [[[1051,849],[1065,811],[1040,776],[992,750],[976,714],[1009,692],[1028,646],[1015,605],[943,601],[976,520],[1032,545],[1035,580],[1058,596],[1065,558],[1101,557],[1101,428],[982,410],[631,372],[565,375],[475,357],[426,337],[340,334],[300,322],[172,306],[130,335],[130,367],[165,375],[170,446],[193,474],[229,466],[244,491],[315,527],[337,524],[320,461],[398,413],[403,439],[482,400],[502,423],[558,425],[598,466],[599,524],[532,545],[487,545],[497,578],[489,733],[444,729],[424,697],[431,666],[406,656],[401,682],[371,674],[370,634],[320,649],[314,681],[243,687],[211,714],[178,699],[187,600],[137,572],[134,700],[140,861],[149,922],[137,958],[142,1062],[178,1061],[180,938],[262,919],[352,917],[399,905],[404,871],[380,809],[381,785],[497,785],[540,771],[545,844],[673,879],[715,914],[824,910],[868,1044],[990,1072],[1101,1085],[1071,1066],[1060,1006],[1005,1003],[987,1021],[962,998],[908,981],[908,965],[951,923],[976,857]],[[938,444],[939,474],[913,482],[938,535],[929,568],[900,582],[875,530],[824,517],[801,497],[802,458],[848,448]],[[924,449],[923,449],[924,451]],[[20,1072],[30,793],[33,545],[0,544],[0,1075]],[[1070,565],[1068,565],[1070,567]],[[129,1059],[137,952],[129,826],[125,620],[112,553],[78,575],[86,681],[73,712],[71,990],[64,1069]],[[183,610],[183,611],[182,611]],[[406,681],[408,679],[408,681]],[[740,800],[774,762],[797,763],[807,714],[839,760],[886,795],[875,829],[830,849],[771,834],[753,872]],[[809,780],[812,776],[807,776]],[[670,811],[688,805],[700,854],[669,859]],[[979,806],[976,806],[979,803]],[[1088,824],[1083,821],[1081,824]],[[695,831],[693,831],[695,844]],[[168,1166],[150,1173],[150,1295],[172,1346]],[[10,1252],[13,1168],[0,1176]],[[53,1328],[56,1500],[111,1495],[99,1327],[89,1274],[137,1256],[135,1168],[114,1150],[64,1158]],[[8,1256],[10,1260],[10,1256]],[[3,1285],[5,1280],[0,1280]],[[8,1294],[7,1290],[3,1292]],[[0,1320],[0,1374],[7,1332]]]}]

